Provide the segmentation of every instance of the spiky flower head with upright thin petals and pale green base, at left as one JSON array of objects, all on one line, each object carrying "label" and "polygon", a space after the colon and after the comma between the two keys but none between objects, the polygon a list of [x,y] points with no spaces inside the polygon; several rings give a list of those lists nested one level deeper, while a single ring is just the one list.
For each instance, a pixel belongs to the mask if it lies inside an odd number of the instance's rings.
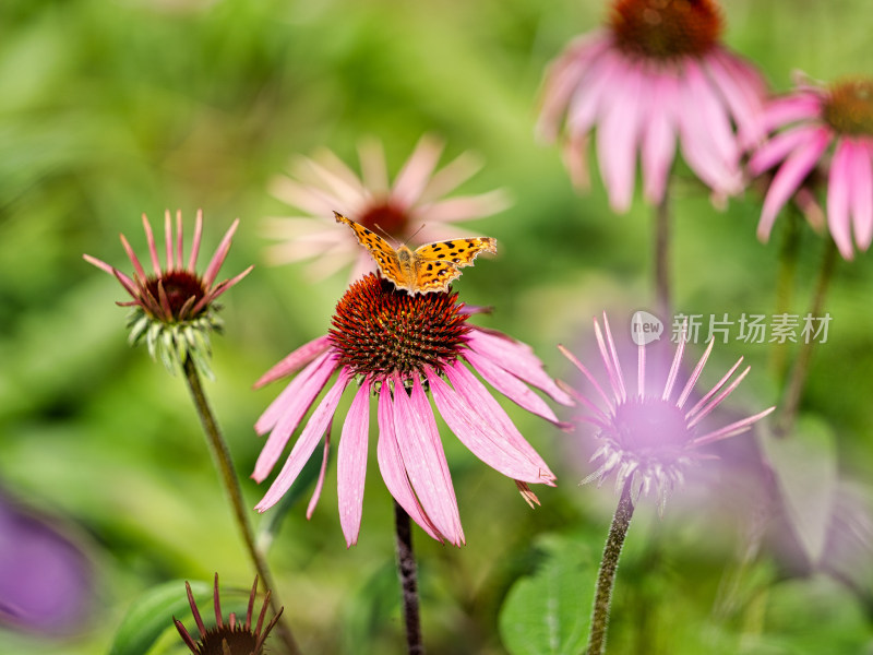
[{"label": "spiky flower head with upright thin petals and pale green base, at left", "polygon": [[176,214],[176,236],[174,238],[169,211],[164,216],[166,245],[166,264],[164,266],[160,265],[158,259],[152,226],[143,214],[143,227],[154,271],[151,275],[143,269],[124,235],[120,235],[121,245],[133,265],[133,277],[97,258],[89,254],[83,255],[85,261],[113,275],[131,295],[133,300],[118,303],[122,307],[133,308],[128,321],[131,329],[130,342],[135,344],[141,338],[145,338],[152,357],[159,357],[170,371],[176,371],[186,359],[190,358],[202,373],[212,377],[210,332],[222,329],[222,320],[217,313],[220,306],[215,300],[252,270],[252,266],[249,266],[236,277],[215,283],[218,271],[230,249],[230,240],[237,225],[239,225],[239,218],[225,234],[202,276],[194,270],[203,233],[202,211],[198,211],[194,237],[187,263],[182,259],[182,213],[177,212]]}]

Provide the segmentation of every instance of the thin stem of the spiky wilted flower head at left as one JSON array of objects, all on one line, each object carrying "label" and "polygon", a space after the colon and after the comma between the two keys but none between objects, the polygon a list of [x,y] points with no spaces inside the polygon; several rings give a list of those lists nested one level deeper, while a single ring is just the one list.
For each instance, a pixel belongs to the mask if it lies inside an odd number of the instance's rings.
[{"label": "thin stem of the spiky wilted flower head at left", "polygon": [[[273,581],[273,574],[270,571],[266,559],[254,541],[254,533],[252,532],[251,523],[249,523],[249,515],[242,502],[242,491],[240,490],[239,480],[237,479],[237,472],[234,468],[234,462],[230,458],[230,451],[227,448],[224,437],[222,437],[222,431],[218,429],[218,424],[206,401],[206,394],[203,392],[203,385],[200,383],[200,373],[198,373],[196,366],[190,357],[186,358],[183,368],[188,389],[191,392],[191,398],[194,401],[194,406],[200,416],[200,422],[203,426],[203,431],[206,433],[206,442],[210,446],[213,463],[218,469],[222,485],[234,509],[234,519],[242,534],[246,550],[254,564],[254,570],[259,577],[264,582],[266,588],[272,592],[270,605],[273,611],[278,614],[282,608],[282,603],[279,603],[277,587]],[[295,642],[291,629],[284,617],[276,624],[276,630],[279,638],[285,643],[287,655],[300,655],[300,650],[297,647],[297,642]]]}]

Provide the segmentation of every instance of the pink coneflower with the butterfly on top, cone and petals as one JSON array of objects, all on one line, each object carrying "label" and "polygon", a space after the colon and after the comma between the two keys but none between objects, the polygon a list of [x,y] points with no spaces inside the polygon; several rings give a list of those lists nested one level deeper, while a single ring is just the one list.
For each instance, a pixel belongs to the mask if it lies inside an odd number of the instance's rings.
[{"label": "pink coneflower with the butterfly on top, cone and petals", "polygon": [[[543,372],[528,346],[473,326],[468,319],[451,289],[410,296],[374,274],[354,283],[336,306],[330,333],[291,353],[256,383],[261,386],[300,371],[255,424],[260,434],[270,432],[252,475],[262,481],[315,397],[337,374],[256,509],[263,512],[283,497],[322,437],[326,463],[331,424],[352,381],[358,390],[343,421],[337,458],[339,520],[349,546],[357,543],[360,531],[371,394],[378,396],[376,458],[382,478],[400,507],[434,539],[461,545],[464,531],[428,390],[457,438],[486,464],[516,480],[528,500],[535,499],[529,483],[553,486],[552,472],[466,365],[506,397],[554,424],[553,412],[527,384],[559,403],[572,401]],[[323,479],[324,465],[310,514]]]}]

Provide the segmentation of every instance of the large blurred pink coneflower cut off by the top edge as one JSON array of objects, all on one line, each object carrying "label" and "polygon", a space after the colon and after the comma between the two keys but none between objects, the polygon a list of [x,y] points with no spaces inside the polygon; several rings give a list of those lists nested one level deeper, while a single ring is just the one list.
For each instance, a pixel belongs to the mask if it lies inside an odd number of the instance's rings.
[{"label": "large blurred pink coneflower cut off by the top edge", "polygon": [[694,174],[717,196],[742,190],[741,147],[754,138],[764,95],[758,73],[720,43],[710,0],[615,0],[606,28],[573,41],[549,68],[539,130],[566,134],[574,183],[597,155],[613,210],[626,211],[639,151],[645,199],[662,201],[679,139]]}]

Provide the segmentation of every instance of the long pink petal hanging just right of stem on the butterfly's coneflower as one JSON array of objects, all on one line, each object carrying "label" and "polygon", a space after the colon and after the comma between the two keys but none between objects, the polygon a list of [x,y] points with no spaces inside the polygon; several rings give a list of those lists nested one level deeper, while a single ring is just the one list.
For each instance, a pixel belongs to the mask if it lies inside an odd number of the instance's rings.
[{"label": "long pink petal hanging just right of stem on the butterfly's coneflower", "polygon": [[430,403],[416,376],[411,396],[394,376],[394,433],[406,475],[424,512],[455,546],[464,543],[457,499]]}]

